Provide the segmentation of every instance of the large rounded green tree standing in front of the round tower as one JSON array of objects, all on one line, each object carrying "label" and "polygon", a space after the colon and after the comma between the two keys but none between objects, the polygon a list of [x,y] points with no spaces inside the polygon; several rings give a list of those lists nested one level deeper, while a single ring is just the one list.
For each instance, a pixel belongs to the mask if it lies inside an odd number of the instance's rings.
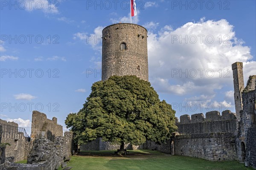
[{"label": "large rounded green tree standing in front of the round tower", "polygon": [[84,107],[65,120],[78,144],[102,137],[123,149],[124,143],[165,142],[177,129],[175,111],[160,101],[149,82],[136,76],[113,76],[95,82],[91,89]]}]

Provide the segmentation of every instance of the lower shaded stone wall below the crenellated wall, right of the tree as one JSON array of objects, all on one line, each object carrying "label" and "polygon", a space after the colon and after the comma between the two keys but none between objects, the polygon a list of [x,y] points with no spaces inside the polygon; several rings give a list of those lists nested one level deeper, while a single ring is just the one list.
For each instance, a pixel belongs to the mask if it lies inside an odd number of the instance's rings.
[{"label": "lower shaded stone wall below the crenellated wall, right of the tree", "polygon": [[200,133],[177,135],[175,155],[207,159],[209,161],[236,160],[233,133]]}]

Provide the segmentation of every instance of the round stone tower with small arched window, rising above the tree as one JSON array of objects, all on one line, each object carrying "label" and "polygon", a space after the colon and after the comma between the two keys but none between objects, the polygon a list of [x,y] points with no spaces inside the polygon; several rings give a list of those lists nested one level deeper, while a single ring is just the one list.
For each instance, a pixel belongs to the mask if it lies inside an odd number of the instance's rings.
[{"label": "round stone tower with small arched window, rising above the tree", "polygon": [[119,23],[102,31],[102,80],[113,75],[135,75],[148,81],[148,31],[139,25]]}]

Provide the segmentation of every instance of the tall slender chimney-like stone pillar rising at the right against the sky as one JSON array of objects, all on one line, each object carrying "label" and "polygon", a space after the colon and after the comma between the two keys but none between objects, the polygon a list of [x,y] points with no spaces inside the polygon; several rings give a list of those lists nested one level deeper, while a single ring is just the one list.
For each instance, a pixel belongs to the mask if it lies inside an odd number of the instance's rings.
[{"label": "tall slender chimney-like stone pillar rising at the right against the sky", "polygon": [[238,121],[240,121],[239,112],[242,110],[241,92],[244,90],[243,63],[242,62],[233,63],[232,70],[233,70],[233,79],[234,79],[236,118],[238,119]]}]

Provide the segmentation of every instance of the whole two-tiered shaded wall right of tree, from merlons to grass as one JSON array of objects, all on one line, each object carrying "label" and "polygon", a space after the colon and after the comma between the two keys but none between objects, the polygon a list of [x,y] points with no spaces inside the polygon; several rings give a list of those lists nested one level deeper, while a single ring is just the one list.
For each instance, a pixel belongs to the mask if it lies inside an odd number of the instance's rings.
[{"label": "whole two-tiered shaded wall right of tree, from merlons to grass", "polygon": [[218,111],[180,116],[174,138],[175,155],[210,161],[237,160],[236,115]]}]

